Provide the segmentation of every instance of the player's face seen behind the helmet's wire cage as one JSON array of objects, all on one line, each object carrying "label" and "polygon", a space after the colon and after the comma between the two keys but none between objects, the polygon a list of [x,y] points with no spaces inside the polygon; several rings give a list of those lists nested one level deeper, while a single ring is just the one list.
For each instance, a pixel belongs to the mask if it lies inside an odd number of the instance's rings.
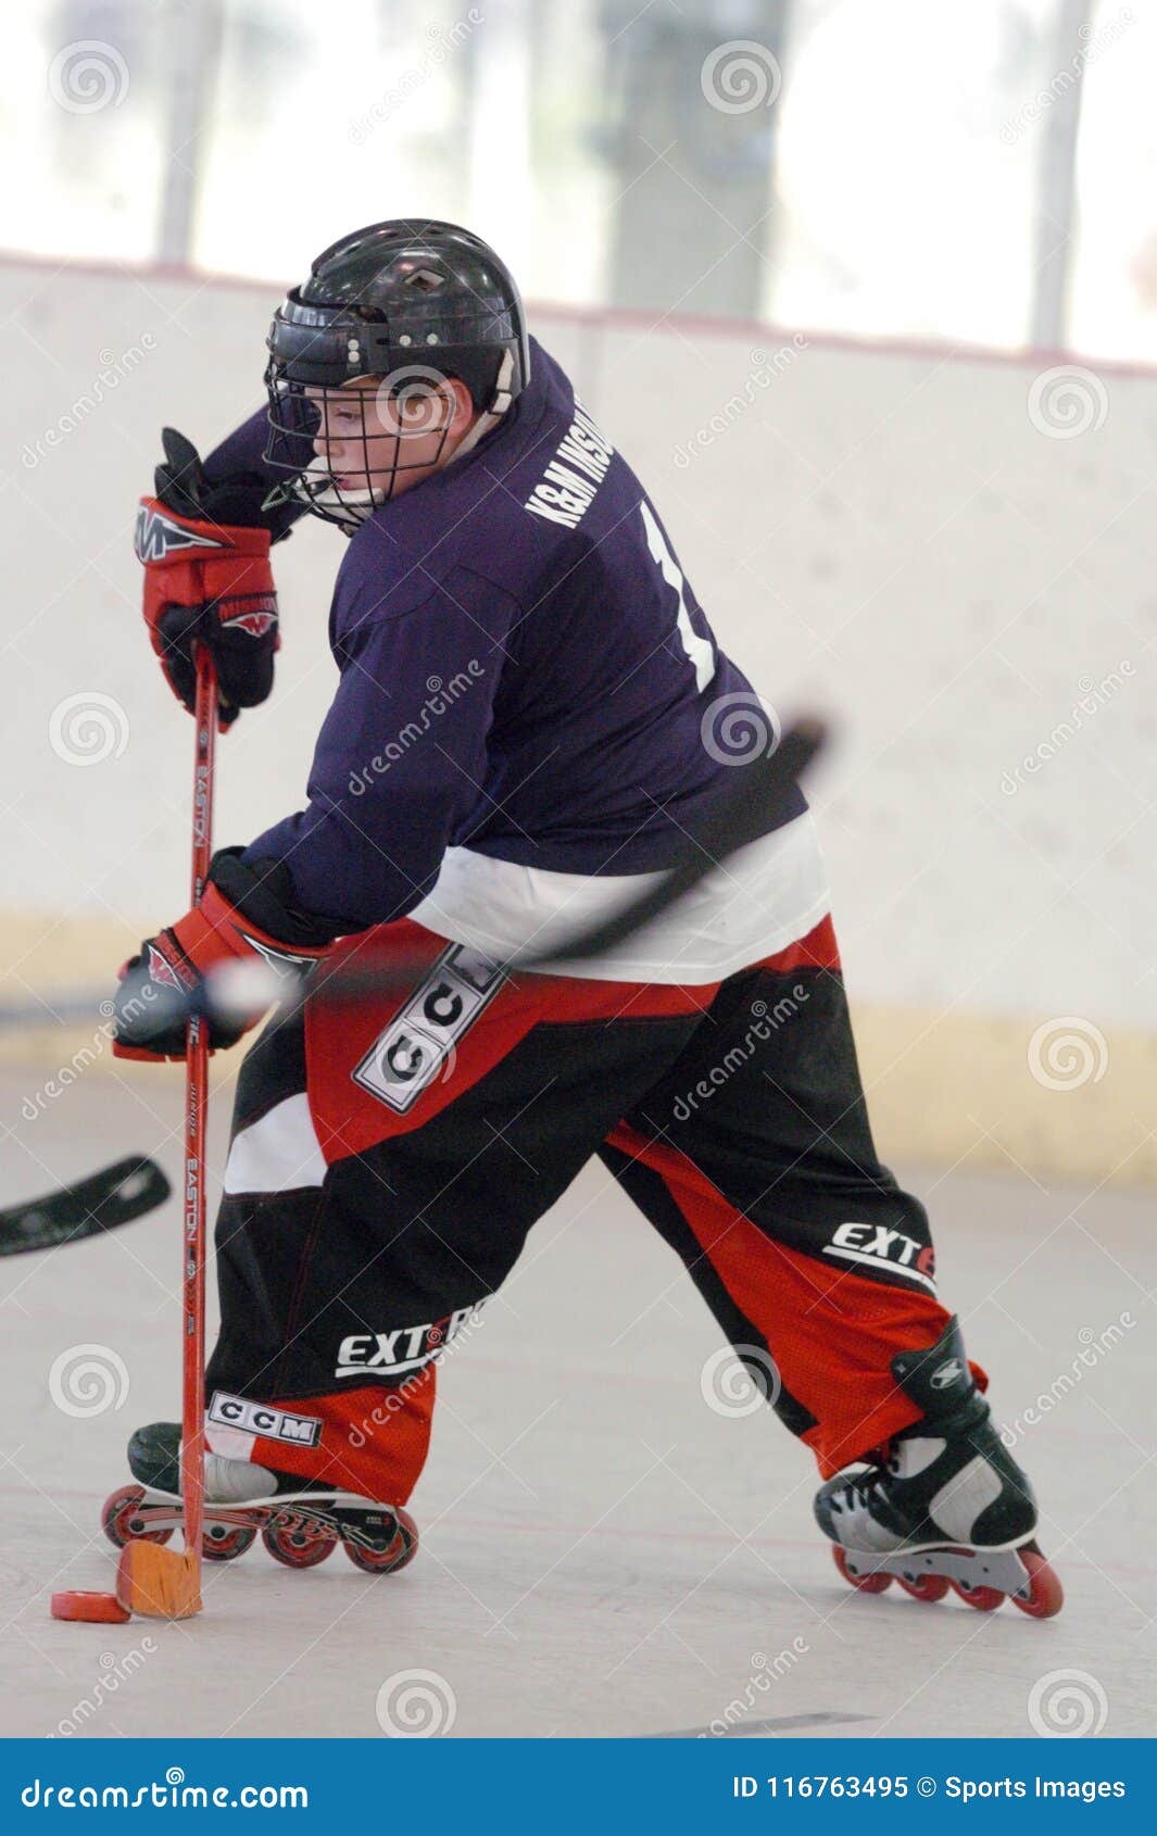
[{"label": "player's face seen behind the helmet's wire cage", "polygon": [[461,384],[410,386],[395,393],[375,376],[342,389],[307,389],[320,415],[314,452],[340,490],[397,498],[444,465],[470,426]]}]

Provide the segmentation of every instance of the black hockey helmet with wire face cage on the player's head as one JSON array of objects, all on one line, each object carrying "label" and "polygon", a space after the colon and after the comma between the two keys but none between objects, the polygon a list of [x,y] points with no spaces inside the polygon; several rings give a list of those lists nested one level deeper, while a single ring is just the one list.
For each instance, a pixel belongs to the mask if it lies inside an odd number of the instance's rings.
[{"label": "black hockey helmet with wire face cage on the player's head", "polygon": [[[286,472],[279,496],[351,531],[391,496],[410,431],[448,430],[454,404],[439,393],[446,376],[470,389],[476,409],[501,415],[531,373],[525,314],[514,277],[492,248],[455,224],[393,218],[354,230],[327,248],[309,281],[277,308],[266,338],[270,441],[264,459]],[[347,389],[380,378],[375,400],[393,435],[367,433],[365,393]],[[314,452],[331,391],[362,402],[367,488],[349,490]],[[426,406],[397,420],[382,404]],[[439,419],[441,417],[441,419]],[[354,435],[356,437],[356,435]],[[373,452],[371,452],[373,444]],[[422,465],[430,465],[428,442]],[[439,446],[441,452],[441,446]]]}]

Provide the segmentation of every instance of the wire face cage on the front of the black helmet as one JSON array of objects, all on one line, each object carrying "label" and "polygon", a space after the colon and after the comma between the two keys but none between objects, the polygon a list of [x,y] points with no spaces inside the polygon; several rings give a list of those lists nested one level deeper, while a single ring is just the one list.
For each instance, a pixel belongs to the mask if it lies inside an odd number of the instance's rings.
[{"label": "wire face cage on the front of the black helmet", "polygon": [[457,406],[448,376],[424,364],[332,387],[296,382],[272,360],[264,382],[264,459],[286,474],[279,496],[349,534],[400,477],[439,465]]}]

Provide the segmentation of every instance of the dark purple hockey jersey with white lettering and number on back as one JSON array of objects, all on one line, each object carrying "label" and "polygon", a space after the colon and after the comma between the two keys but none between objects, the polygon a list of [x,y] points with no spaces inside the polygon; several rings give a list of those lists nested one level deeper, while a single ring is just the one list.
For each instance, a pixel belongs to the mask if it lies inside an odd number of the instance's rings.
[{"label": "dark purple hockey jersey with white lettering and number on back", "polygon": [[[257,468],[263,442],[264,411],[209,476]],[[299,905],[349,931],[413,912],[454,935],[444,863],[498,903],[670,867],[727,771],[720,711],[766,722],[637,477],[534,340],[503,420],[347,542],[329,637],[342,679],[309,802],[246,859],[283,859]],[[793,935],[825,903],[806,878],[799,911],[781,907]],[[490,942],[509,944],[501,925]]]}]

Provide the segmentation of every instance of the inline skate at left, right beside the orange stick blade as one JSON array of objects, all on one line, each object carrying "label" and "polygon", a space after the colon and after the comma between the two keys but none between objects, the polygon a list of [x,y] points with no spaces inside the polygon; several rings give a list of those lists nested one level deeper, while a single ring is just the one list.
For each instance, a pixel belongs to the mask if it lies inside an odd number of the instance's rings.
[{"label": "inline skate at left, right beside the orange stick blade", "polygon": [[[118,1548],[140,1537],[167,1542],[182,1522],[178,1423],[138,1428],[129,1441],[129,1469],[140,1483],[108,1498],[105,1535]],[[230,1562],[244,1555],[257,1531],[286,1568],[312,1568],[342,1544],[351,1562],[373,1575],[404,1568],[419,1542],[417,1524],[400,1506],[208,1452],[202,1555]]]}]

